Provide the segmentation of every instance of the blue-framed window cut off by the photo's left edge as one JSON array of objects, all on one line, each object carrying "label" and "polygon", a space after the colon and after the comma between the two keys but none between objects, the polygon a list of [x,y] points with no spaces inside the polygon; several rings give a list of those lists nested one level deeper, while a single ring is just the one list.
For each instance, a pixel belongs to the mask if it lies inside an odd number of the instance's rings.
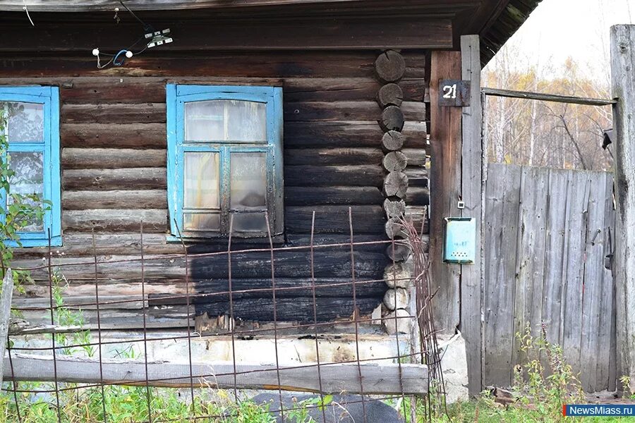
[{"label": "blue-framed window cut off by the photo's left edge", "polygon": [[[4,135],[8,156],[16,175],[11,191],[37,193],[52,205],[41,222],[32,222],[20,232],[23,247],[59,246],[61,198],[59,168],[59,89],[57,87],[0,87],[0,107],[8,112]],[[0,203],[7,206],[6,192]],[[4,219],[4,212],[0,219]]]}]

